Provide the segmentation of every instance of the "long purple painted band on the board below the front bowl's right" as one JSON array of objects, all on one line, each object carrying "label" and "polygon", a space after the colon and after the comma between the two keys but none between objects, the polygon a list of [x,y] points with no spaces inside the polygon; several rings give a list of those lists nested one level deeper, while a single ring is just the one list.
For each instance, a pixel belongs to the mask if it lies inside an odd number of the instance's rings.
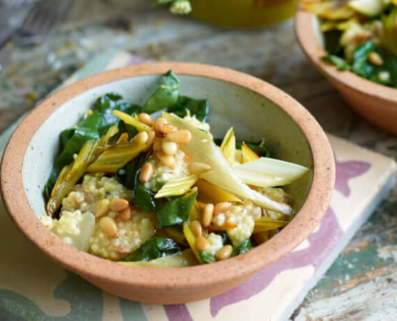
[{"label": "long purple painted band on the board below the front bowl's right", "polygon": [[[274,277],[286,269],[296,269],[306,265],[315,268],[329,255],[343,231],[338,224],[334,211],[329,208],[320,223],[320,229],[309,236],[310,246],[302,251],[292,252],[281,258],[269,267],[262,269],[236,288],[210,299],[210,312],[212,317],[230,304],[247,300],[259,293],[269,285]],[[174,320],[170,320],[174,321]]]}]

